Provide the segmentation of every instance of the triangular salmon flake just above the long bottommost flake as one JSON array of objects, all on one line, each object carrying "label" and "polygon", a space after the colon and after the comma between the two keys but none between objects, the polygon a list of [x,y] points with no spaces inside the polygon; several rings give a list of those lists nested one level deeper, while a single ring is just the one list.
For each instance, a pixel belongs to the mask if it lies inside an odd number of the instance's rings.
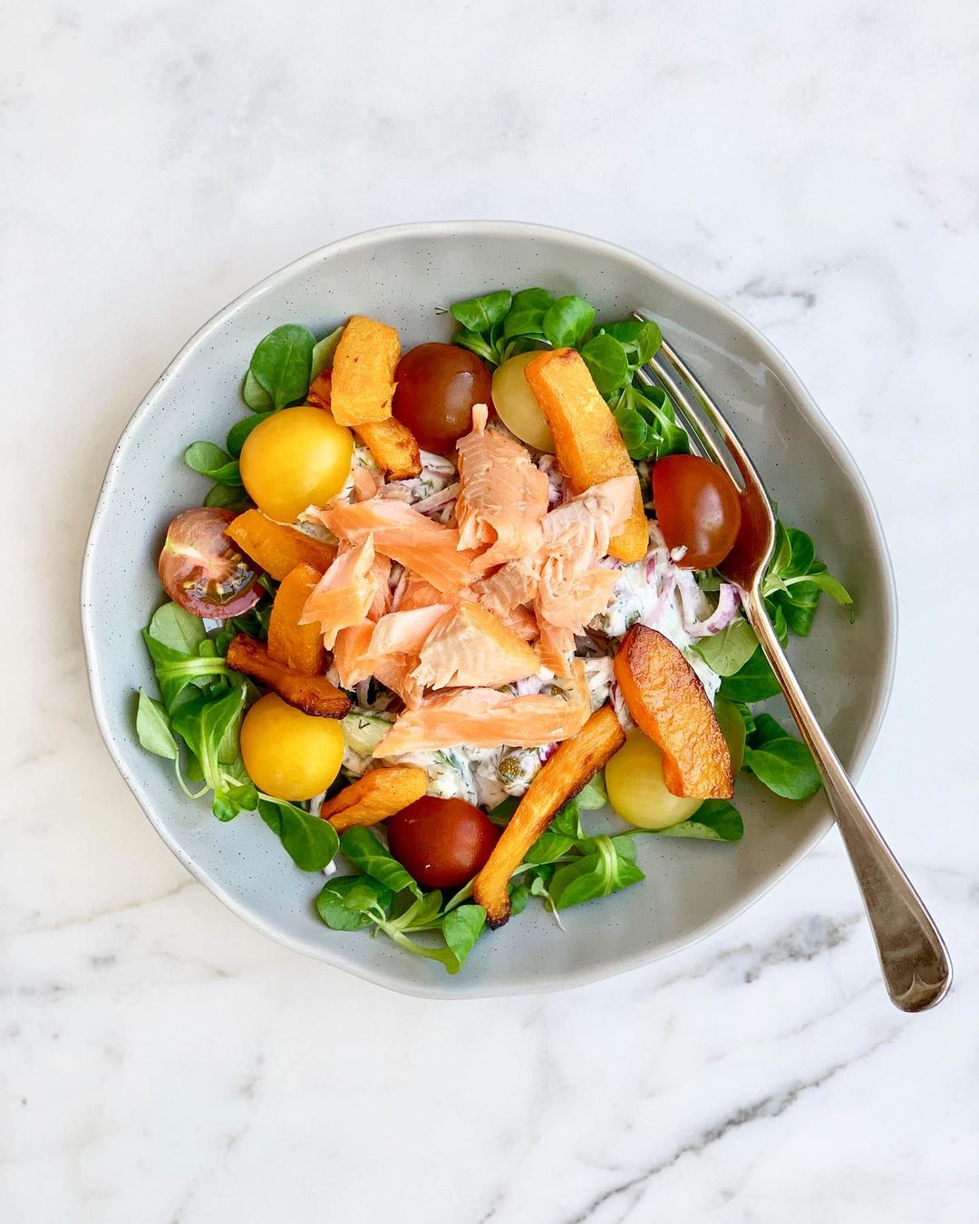
[{"label": "triangular salmon flake just above the long bottommost flake", "polygon": [[411,674],[425,688],[493,688],[538,668],[536,651],[513,629],[464,600],[428,634]]}]

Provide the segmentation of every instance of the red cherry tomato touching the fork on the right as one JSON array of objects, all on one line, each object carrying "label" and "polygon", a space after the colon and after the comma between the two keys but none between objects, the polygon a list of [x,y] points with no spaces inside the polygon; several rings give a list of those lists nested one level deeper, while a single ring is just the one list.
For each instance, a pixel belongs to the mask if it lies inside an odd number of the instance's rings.
[{"label": "red cherry tomato touching the fork on the right", "polygon": [[742,503],[731,477],[699,455],[666,455],[652,466],[652,501],[669,548],[685,547],[683,569],[712,569],[734,547]]}]

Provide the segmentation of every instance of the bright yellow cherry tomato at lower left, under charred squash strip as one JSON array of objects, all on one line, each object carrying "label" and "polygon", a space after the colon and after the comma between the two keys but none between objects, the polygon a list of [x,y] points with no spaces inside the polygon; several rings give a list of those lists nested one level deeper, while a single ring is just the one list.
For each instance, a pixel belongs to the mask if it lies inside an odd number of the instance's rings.
[{"label": "bright yellow cherry tomato at lower left, under charred squash strip", "polygon": [[340,770],[344,733],[335,718],[318,718],[275,693],[259,698],[241,723],[241,759],[259,791],[277,799],[312,799]]}]

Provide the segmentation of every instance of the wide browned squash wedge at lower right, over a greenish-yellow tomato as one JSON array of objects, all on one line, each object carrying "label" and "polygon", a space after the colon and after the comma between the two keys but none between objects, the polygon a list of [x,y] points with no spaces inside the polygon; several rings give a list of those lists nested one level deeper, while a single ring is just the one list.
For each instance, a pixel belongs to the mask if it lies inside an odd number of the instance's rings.
[{"label": "wide browned squash wedge at lower right, over a greenish-yellow tomato", "polygon": [[634,624],[614,666],[629,714],[660,745],[667,791],[688,799],[729,799],[731,750],[683,654],[656,629]]}]

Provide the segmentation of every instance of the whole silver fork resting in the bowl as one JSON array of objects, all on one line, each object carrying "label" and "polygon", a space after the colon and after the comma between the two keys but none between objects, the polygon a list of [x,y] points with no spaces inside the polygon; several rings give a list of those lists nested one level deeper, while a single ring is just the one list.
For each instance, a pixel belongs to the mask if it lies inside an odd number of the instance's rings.
[{"label": "whole silver fork resting in the bowl", "polygon": [[[633,313],[635,318],[655,322],[655,317],[645,310]],[[658,383],[669,394],[702,453],[720,464],[740,490],[742,528],[734,548],[718,568],[738,589],[744,614],[822,775],[870,919],[891,1001],[902,1011],[934,1007],[952,984],[948,951],[816,721],[765,610],[761,580],[775,546],[775,514],[765,486],[721,410],[666,340],[650,361],[649,370],[655,377],[641,368],[641,381],[647,386]],[[711,426],[728,454],[717,446]]]}]

